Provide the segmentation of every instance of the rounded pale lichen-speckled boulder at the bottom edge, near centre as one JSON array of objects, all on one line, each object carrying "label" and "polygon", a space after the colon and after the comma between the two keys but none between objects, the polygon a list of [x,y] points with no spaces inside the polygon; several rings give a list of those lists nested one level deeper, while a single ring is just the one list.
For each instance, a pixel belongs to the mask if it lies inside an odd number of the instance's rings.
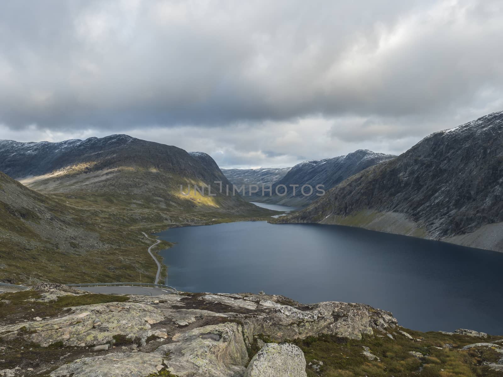
[{"label": "rounded pale lichen-speckled boulder at the bottom edge, near centre", "polygon": [[307,377],[304,352],[293,344],[268,343],[251,359],[244,377]]}]

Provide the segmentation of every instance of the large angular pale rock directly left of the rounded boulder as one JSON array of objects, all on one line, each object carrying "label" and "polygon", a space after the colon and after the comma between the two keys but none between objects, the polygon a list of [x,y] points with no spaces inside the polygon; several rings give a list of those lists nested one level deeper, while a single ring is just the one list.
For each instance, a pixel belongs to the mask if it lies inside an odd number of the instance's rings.
[{"label": "large angular pale rock directly left of the rounded boulder", "polygon": [[244,373],[248,353],[242,327],[227,322],[178,333],[173,343],[157,348],[169,355],[164,364],[179,376],[234,377]]}]

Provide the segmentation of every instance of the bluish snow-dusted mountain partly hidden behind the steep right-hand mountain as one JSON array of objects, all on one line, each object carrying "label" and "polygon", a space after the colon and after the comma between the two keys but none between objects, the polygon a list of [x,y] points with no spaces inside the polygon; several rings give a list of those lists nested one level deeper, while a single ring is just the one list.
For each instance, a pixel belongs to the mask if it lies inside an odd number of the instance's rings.
[{"label": "bluish snow-dusted mountain partly hidden behind the steep right-hand mountain", "polygon": [[[356,174],[369,166],[376,165],[383,161],[395,158],[391,154],[375,153],[367,149],[359,149],[346,156],[325,158],[321,160],[311,160],[301,162],[290,169],[285,176],[276,181],[272,186],[273,195],[262,196],[262,191],[251,197],[251,200],[262,203],[276,203],[293,207],[303,207],[319,198],[316,194],[322,194],[316,190],[317,185],[323,185],[325,191],[328,191],[334,185],[342,182],[347,177]],[[298,185],[295,190],[290,185]],[[304,189],[307,196],[302,195],[302,186],[308,184],[312,187],[312,193],[309,195],[309,188]],[[285,185],[287,187],[286,195],[283,194]]]}]

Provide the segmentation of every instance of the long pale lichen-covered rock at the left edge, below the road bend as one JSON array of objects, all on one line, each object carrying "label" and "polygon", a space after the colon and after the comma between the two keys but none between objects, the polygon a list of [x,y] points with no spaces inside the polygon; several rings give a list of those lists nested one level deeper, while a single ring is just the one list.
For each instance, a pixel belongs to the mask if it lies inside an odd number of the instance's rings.
[{"label": "long pale lichen-covered rock at the left edge, below the road bend", "polygon": [[[25,340],[46,347],[62,341],[68,346],[100,345],[112,341],[114,335],[136,336],[150,325],[164,319],[162,313],[137,303],[107,303],[69,308],[67,316],[42,321],[1,326],[7,340],[22,336]],[[101,325],[95,327],[99,319]]]}]

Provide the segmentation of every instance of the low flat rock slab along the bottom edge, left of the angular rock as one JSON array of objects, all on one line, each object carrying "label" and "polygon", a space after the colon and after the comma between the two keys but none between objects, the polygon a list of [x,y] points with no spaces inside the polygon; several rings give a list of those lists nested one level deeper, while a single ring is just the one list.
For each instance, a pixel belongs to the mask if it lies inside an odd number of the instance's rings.
[{"label": "low flat rock slab along the bottom edge, left of the angular rock", "polygon": [[143,377],[163,368],[158,353],[108,353],[77,359],[50,373],[51,377]]}]

